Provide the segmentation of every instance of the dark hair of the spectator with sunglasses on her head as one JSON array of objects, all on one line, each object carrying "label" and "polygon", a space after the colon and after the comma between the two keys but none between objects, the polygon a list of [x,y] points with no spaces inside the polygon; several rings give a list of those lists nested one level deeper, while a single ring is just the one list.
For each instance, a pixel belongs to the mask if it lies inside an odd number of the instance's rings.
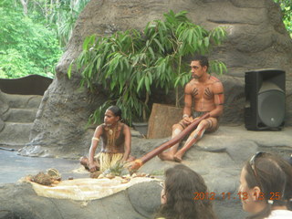
[{"label": "dark hair of the spectator with sunglasses on her head", "polygon": [[[284,168],[286,170],[284,170]],[[285,206],[291,198],[291,167],[283,159],[269,153],[255,157],[254,164],[245,163],[245,180],[248,188],[258,186],[264,194],[266,208],[263,211],[247,217],[247,219],[262,219],[271,214],[272,206]],[[290,177],[290,179],[288,179]],[[276,193],[280,199],[276,200]],[[273,201],[268,203],[268,201]]]}]

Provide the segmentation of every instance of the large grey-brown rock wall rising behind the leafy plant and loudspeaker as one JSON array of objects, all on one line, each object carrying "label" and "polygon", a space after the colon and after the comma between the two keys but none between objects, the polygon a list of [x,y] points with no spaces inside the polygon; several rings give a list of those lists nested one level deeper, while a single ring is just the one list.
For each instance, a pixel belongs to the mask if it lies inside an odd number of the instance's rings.
[{"label": "large grey-brown rock wall rising behind the leafy plant and loudspeaker", "polygon": [[80,89],[77,71],[73,70],[72,78],[68,79],[68,65],[78,57],[82,40],[91,34],[141,29],[171,9],[187,10],[194,23],[207,29],[226,26],[228,39],[210,55],[224,61],[228,68],[222,78],[226,95],[223,123],[244,122],[245,71],[280,68],[287,72],[287,125],[292,125],[292,40],[281,21],[279,6],[272,0],[92,0],[78,18],[67,50],[58,63],[57,77],[38,110],[31,141],[23,152],[49,155],[57,151],[64,155],[70,151],[78,154],[88,151],[93,130],[87,129],[86,123],[106,95],[99,90],[90,96],[88,90]]}]

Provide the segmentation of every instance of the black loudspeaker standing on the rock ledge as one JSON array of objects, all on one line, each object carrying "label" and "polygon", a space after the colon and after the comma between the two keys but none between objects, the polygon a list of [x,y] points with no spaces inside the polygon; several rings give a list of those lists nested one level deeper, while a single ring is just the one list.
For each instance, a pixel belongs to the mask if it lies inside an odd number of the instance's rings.
[{"label": "black loudspeaker standing on the rock ledge", "polygon": [[245,128],[281,130],[285,120],[286,75],[283,70],[245,72]]}]

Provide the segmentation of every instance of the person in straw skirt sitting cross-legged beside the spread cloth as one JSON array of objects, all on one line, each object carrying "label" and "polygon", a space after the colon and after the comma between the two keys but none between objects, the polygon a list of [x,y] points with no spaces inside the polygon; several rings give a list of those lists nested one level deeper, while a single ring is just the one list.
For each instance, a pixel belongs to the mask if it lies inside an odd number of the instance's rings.
[{"label": "person in straw skirt sitting cross-legged beside the spread cloth", "polygon": [[[104,114],[104,123],[99,125],[94,132],[89,149],[89,158],[82,157],[80,159],[80,163],[89,172],[104,172],[117,163],[133,160],[133,157],[130,156],[130,128],[120,120],[120,108],[110,106]],[[101,151],[95,157],[99,139],[102,141]]]}]

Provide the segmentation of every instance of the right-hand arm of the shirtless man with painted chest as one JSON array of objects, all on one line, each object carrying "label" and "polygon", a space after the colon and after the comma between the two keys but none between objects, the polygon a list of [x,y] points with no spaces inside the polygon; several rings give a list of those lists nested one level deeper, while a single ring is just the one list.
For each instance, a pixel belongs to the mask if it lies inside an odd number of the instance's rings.
[{"label": "right-hand arm of the shirtless man with painted chest", "polygon": [[216,81],[212,88],[214,92],[215,109],[210,111],[210,117],[219,117],[223,114],[224,110],[224,87],[221,81]]}]

